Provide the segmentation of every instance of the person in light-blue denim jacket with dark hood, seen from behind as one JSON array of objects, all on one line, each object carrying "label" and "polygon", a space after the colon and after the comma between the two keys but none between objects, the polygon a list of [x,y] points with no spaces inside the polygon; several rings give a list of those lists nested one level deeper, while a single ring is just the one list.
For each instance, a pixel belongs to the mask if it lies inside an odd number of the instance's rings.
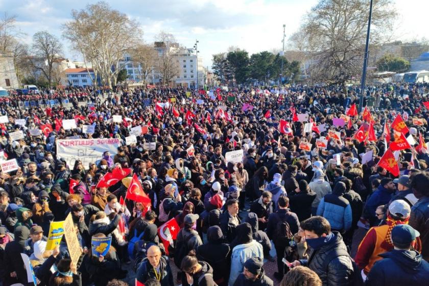
[{"label": "person in light-blue denim jacket with dark hood, seen from behind", "polygon": [[237,227],[237,232],[240,236],[247,236],[248,243],[239,244],[232,249],[231,254],[231,271],[229,275],[229,285],[233,285],[237,277],[244,270],[244,262],[250,257],[259,257],[264,260],[264,249],[252,237],[252,229],[250,225],[244,223]]}]

